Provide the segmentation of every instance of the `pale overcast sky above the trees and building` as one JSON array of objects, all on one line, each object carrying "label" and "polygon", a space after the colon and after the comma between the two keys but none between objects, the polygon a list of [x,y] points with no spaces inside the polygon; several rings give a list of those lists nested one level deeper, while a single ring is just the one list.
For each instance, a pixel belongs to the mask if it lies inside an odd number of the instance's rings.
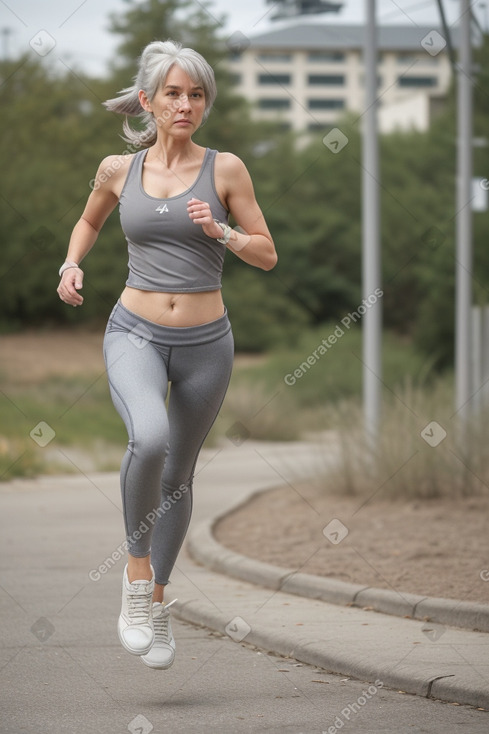
[{"label": "pale overcast sky above the trees and building", "polygon": [[[142,0],[141,0],[142,1]],[[272,4],[265,0],[213,0],[205,3],[193,0],[196,6],[207,7],[217,19],[227,21],[223,34],[240,30],[245,35],[257,35],[278,27],[270,21]],[[450,23],[458,18],[461,0],[443,0]],[[472,5],[484,28],[488,27],[489,0],[473,0]],[[344,0],[340,14],[316,16],[315,22],[362,23],[366,0]],[[0,0],[0,53],[15,57],[31,48],[40,55],[84,71],[103,75],[108,59],[119,41],[107,31],[111,13],[124,13],[123,0]],[[382,24],[439,27],[436,0],[377,0],[377,17]],[[306,20],[307,20],[306,16]]]}]

